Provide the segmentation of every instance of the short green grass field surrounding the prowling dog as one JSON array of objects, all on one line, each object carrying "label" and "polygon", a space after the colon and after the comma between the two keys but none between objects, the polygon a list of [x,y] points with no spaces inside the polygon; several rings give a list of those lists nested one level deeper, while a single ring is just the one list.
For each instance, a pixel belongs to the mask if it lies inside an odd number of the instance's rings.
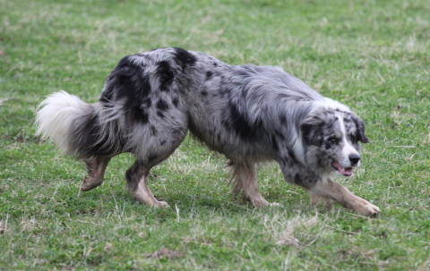
[{"label": "short green grass field surrounding the prowling dog", "polygon": [[[428,270],[429,40],[426,0],[0,0],[0,269]],[[131,199],[129,155],[79,193],[84,165],[34,137],[35,108],[59,89],[97,101],[122,56],[156,47],[280,65],[350,106],[371,144],[338,181],[382,214],[314,209],[271,164],[260,189],[283,206],[254,209],[188,138],[150,175],[171,208]]]}]

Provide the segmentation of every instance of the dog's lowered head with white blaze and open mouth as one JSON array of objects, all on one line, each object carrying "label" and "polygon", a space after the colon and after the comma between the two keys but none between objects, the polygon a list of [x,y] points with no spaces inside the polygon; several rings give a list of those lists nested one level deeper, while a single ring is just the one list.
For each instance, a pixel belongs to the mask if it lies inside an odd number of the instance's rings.
[{"label": "dog's lowered head with white blaze and open mouth", "polygon": [[351,176],[360,165],[361,146],[368,143],[365,124],[351,112],[319,108],[300,124],[306,163],[319,174]]}]

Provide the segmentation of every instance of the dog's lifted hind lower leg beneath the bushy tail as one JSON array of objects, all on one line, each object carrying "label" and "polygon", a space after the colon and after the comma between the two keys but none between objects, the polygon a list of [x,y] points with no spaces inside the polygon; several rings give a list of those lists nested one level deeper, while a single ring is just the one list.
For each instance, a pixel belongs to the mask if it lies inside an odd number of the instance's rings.
[{"label": "dog's lifted hind lower leg beneath the bushy tail", "polygon": [[84,160],[88,175],[83,178],[81,191],[90,191],[103,183],[103,176],[109,161],[110,157],[93,157],[90,160]]}]

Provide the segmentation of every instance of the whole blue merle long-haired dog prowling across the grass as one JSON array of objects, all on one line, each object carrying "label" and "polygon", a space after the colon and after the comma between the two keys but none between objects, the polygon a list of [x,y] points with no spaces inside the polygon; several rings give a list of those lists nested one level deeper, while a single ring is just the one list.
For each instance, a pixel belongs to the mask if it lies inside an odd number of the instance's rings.
[{"label": "whole blue merle long-haired dog prowling across the grass", "polygon": [[135,162],[125,178],[133,198],[167,206],[148,189],[148,174],[190,131],[228,158],[234,195],[254,207],[269,205],[258,191],[256,165],[275,160],[315,205],[334,200],[361,215],[380,212],[332,181],[360,164],[358,141],[368,142],[363,121],[280,67],[235,66],[177,47],[127,55],[99,102],[60,91],[40,104],[36,123],[42,139],[86,163],[81,191],[103,182],[111,157],[130,152]]}]

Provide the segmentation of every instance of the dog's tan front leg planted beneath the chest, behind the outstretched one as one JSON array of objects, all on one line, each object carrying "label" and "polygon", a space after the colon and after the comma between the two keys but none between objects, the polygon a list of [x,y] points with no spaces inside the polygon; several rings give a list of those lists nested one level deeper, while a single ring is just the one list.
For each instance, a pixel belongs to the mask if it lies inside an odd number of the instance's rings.
[{"label": "dog's tan front leg planted beneath the chest, behind the outstretched one", "polygon": [[233,182],[233,194],[235,197],[242,191],[242,197],[249,200],[254,207],[266,207],[269,202],[262,198],[258,191],[257,171],[255,164],[243,165],[230,163],[231,182]]}]

